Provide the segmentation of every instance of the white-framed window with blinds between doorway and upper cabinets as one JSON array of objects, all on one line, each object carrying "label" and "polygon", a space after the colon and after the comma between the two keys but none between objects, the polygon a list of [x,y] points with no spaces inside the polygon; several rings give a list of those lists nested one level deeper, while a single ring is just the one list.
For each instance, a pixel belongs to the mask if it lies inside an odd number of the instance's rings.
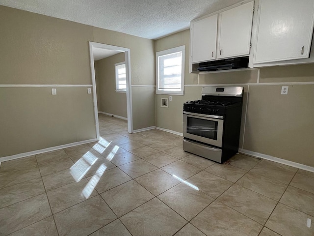
[{"label": "white-framed window with blinds between doorway and upper cabinets", "polygon": [[185,46],[156,53],[156,93],[183,95],[184,58]]}]

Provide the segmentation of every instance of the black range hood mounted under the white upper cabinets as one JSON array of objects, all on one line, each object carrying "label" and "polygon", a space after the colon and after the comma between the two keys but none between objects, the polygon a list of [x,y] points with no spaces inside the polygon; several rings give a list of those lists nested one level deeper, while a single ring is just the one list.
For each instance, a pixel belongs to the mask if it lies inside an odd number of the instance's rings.
[{"label": "black range hood mounted under the white upper cabinets", "polygon": [[222,60],[214,60],[201,62],[198,71],[215,71],[215,70],[231,70],[249,67],[249,57],[230,58]]}]

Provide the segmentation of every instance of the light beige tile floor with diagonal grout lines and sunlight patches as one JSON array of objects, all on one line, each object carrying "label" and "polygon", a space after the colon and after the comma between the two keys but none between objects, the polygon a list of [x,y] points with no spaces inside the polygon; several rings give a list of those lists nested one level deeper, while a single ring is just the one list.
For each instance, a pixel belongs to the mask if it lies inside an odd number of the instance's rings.
[{"label": "light beige tile floor with diagonal grout lines and sunlight patches", "polygon": [[1,163],[1,236],[314,236],[314,173],[99,120],[100,142]]}]

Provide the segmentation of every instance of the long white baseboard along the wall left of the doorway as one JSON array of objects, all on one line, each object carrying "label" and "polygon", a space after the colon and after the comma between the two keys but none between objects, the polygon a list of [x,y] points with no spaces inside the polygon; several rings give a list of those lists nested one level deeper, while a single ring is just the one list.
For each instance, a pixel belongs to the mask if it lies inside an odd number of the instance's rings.
[{"label": "long white baseboard along the wall left of the doorway", "polygon": [[63,149],[63,148],[71,148],[73,146],[88,144],[88,143],[92,143],[95,141],[97,141],[97,139],[89,139],[89,140],[79,141],[79,142],[75,142],[75,143],[71,143],[71,144],[64,144],[64,145],[60,145],[60,146],[56,146],[56,147],[52,147],[52,148],[44,148],[44,149],[24,152],[24,153],[12,155],[12,156],[4,156],[4,157],[0,157],[0,163],[1,163],[1,161],[9,161],[9,160],[23,158],[26,156],[37,155],[37,154],[41,154],[41,153],[45,153],[45,152],[49,152],[49,151],[55,151],[55,150],[59,150],[59,149]]}]

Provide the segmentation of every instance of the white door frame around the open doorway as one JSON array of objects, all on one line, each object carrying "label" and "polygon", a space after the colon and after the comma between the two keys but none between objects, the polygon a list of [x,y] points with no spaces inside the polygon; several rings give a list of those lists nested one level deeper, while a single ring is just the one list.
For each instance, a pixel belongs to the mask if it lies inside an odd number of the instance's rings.
[{"label": "white door frame around the open doorway", "polygon": [[131,91],[131,56],[130,48],[123,48],[103,43],[89,42],[89,55],[90,55],[90,68],[92,75],[92,88],[93,88],[93,102],[95,113],[96,137],[99,141],[99,120],[98,120],[98,107],[97,107],[97,94],[96,94],[96,78],[95,78],[95,65],[93,48],[102,48],[122,52],[125,55],[126,62],[126,82],[127,82],[127,116],[128,116],[128,133],[133,133],[133,112],[132,112],[132,91]]}]

